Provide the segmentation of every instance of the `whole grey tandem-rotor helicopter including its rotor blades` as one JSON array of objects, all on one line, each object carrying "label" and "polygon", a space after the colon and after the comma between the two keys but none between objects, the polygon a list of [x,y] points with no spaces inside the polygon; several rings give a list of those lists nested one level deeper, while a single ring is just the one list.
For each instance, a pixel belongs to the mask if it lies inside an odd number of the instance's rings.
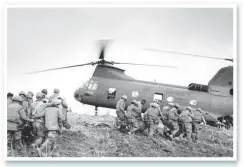
[{"label": "whole grey tandem-rotor helicopter including its rotor blades", "polygon": [[[106,41],[101,42],[99,60],[95,62],[35,71],[33,73],[47,72],[66,68],[96,65],[92,77],[82,87],[74,92],[74,98],[83,104],[95,106],[97,115],[98,107],[115,109],[122,95],[127,95],[127,106],[132,100],[145,99],[147,102],[142,111],[145,112],[150,102],[157,99],[161,106],[166,104],[166,99],[173,96],[181,106],[187,106],[189,101],[195,99],[197,106],[202,108],[204,117],[209,124],[215,124],[221,120],[232,122],[233,115],[233,66],[221,68],[209,81],[208,85],[190,83],[188,87],[163,84],[149,81],[136,80],[117,68],[115,64],[146,65],[174,68],[173,66],[149,65],[136,63],[121,63],[105,60]],[[152,50],[176,54],[171,51]],[[177,53],[179,54],[179,53]],[[180,53],[188,56],[212,58],[233,62],[233,59],[222,59],[200,55]]]}]

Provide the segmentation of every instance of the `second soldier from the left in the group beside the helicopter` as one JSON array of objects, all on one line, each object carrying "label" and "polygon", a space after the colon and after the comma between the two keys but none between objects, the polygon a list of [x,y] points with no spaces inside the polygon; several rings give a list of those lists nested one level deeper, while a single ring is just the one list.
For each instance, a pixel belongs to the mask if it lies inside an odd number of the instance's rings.
[{"label": "second soldier from the left in the group beside the helicopter", "polygon": [[131,104],[128,106],[126,117],[128,119],[128,123],[132,125],[130,133],[134,133],[139,130],[139,122],[142,121],[142,116],[136,100],[132,100]]}]

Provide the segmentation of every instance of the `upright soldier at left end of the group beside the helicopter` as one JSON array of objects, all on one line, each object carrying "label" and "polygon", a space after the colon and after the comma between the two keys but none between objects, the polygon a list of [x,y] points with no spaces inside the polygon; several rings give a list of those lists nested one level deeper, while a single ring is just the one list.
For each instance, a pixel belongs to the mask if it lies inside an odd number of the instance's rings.
[{"label": "upright soldier at left end of the group beside the helicopter", "polygon": [[126,123],[127,123],[127,118],[125,115],[125,103],[127,101],[127,96],[123,95],[121,96],[120,100],[117,102],[116,105],[116,114],[117,114],[117,118],[118,118],[118,123],[119,126],[117,127],[118,129],[121,128],[121,126],[125,127]]}]

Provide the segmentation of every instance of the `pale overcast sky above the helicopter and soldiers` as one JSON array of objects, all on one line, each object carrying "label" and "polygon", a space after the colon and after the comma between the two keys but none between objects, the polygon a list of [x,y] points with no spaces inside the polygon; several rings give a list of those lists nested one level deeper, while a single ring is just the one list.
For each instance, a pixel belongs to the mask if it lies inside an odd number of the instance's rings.
[{"label": "pale overcast sky above the helicopter and soldiers", "polygon": [[95,61],[99,39],[113,39],[107,60],[178,67],[118,66],[136,79],[208,84],[221,67],[232,63],[144,49],[233,58],[232,12],[228,8],[9,8],[8,91],[36,93],[47,88],[51,94],[58,87],[73,111],[92,111],[75,101],[73,93],[92,76],[94,66],[25,73]]}]

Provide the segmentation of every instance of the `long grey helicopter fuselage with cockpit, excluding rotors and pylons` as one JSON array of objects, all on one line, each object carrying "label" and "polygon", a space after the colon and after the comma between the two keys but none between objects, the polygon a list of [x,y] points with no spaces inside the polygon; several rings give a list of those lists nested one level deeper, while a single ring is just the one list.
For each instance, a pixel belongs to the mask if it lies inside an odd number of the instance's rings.
[{"label": "long grey helicopter fuselage with cockpit, excluding rotors and pylons", "polygon": [[146,100],[145,111],[149,104],[157,99],[161,106],[166,99],[173,96],[181,106],[188,106],[190,100],[197,100],[197,107],[204,112],[206,121],[215,122],[217,118],[233,114],[233,98],[231,96],[212,95],[208,92],[192,91],[187,87],[145,82],[140,80],[118,80],[102,77],[92,77],[75,93],[75,98],[81,103],[96,107],[115,108],[122,95],[128,100]]}]

